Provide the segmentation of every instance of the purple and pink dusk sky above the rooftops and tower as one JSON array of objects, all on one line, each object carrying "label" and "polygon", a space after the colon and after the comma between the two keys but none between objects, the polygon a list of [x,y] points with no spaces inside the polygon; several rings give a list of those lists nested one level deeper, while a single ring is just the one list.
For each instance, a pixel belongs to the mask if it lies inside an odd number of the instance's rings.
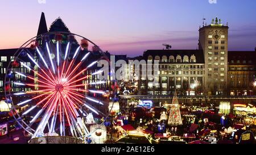
[{"label": "purple and pink dusk sky above the rooftops and tower", "polygon": [[[41,0],[42,1],[42,0]],[[112,54],[136,56],[148,49],[196,49],[203,18],[229,23],[229,50],[254,50],[255,1],[38,0],[0,1],[0,49],[18,48],[36,35],[41,12],[47,27],[58,18],[69,30]]]}]

